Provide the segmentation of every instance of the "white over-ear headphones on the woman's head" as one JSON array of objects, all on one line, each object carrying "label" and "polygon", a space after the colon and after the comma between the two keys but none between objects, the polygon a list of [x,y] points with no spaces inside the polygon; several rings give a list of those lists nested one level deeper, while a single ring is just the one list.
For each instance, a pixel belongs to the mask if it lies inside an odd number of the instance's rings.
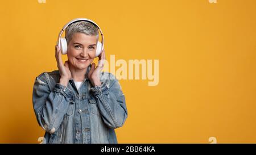
[{"label": "white over-ear headphones on the woman's head", "polygon": [[96,57],[100,55],[100,53],[104,50],[104,36],[103,33],[101,31],[101,28],[94,23],[92,20],[90,19],[86,19],[86,18],[76,18],[71,20],[70,22],[68,22],[67,24],[65,24],[65,26],[61,29],[59,36],[58,36],[58,41],[57,41],[57,45],[59,47],[59,49],[61,50],[61,53],[63,55],[67,54],[67,50],[68,50],[68,44],[67,44],[67,40],[65,39],[65,37],[61,37],[62,33],[64,32],[64,30],[72,23],[78,22],[78,21],[86,21],[86,22],[90,22],[92,23],[94,26],[96,26],[98,28],[98,30],[100,30],[101,33],[101,42],[98,41],[97,43],[97,47],[96,47]]}]

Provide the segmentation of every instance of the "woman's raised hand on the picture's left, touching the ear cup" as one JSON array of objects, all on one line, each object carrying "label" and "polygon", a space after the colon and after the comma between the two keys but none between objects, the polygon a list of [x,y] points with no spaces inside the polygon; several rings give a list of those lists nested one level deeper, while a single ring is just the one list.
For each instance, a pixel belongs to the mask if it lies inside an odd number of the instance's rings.
[{"label": "woman's raised hand on the picture's left, touching the ear cup", "polygon": [[59,47],[55,46],[55,58],[57,61],[57,67],[59,68],[60,72],[60,84],[64,86],[68,86],[69,79],[72,78],[71,72],[69,70],[69,64],[68,61],[65,61],[65,64],[63,65],[62,59],[61,59],[61,52]]}]

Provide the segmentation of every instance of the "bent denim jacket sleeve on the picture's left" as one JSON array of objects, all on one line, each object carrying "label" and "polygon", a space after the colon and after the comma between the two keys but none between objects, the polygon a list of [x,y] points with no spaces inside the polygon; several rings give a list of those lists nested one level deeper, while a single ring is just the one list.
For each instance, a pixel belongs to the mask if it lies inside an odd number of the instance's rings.
[{"label": "bent denim jacket sleeve on the picture's left", "polygon": [[32,101],[39,125],[47,132],[54,133],[68,110],[69,102],[72,100],[72,91],[60,83],[56,83],[51,91],[49,81],[47,81],[49,75],[46,74],[42,73],[36,77]]}]

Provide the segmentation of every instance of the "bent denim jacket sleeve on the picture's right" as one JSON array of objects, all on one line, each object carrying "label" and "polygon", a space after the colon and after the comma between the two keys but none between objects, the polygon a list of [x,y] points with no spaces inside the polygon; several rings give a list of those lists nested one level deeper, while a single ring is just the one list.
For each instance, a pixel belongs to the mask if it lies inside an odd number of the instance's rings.
[{"label": "bent denim jacket sleeve on the picture's right", "polygon": [[110,82],[102,82],[101,86],[90,89],[96,98],[101,118],[110,128],[119,128],[127,118],[125,95],[122,93],[118,80],[112,76]]}]

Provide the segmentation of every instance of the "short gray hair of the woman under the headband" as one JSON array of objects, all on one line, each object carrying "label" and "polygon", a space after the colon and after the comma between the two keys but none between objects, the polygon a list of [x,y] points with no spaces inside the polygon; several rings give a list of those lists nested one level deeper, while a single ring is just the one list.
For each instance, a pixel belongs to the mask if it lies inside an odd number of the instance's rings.
[{"label": "short gray hair of the woman under the headband", "polygon": [[80,21],[70,24],[65,30],[65,38],[67,44],[72,39],[72,36],[76,32],[84,33],[89,36],[96,36],[98,41],[98,28],[94,24],[86,21]]}]

